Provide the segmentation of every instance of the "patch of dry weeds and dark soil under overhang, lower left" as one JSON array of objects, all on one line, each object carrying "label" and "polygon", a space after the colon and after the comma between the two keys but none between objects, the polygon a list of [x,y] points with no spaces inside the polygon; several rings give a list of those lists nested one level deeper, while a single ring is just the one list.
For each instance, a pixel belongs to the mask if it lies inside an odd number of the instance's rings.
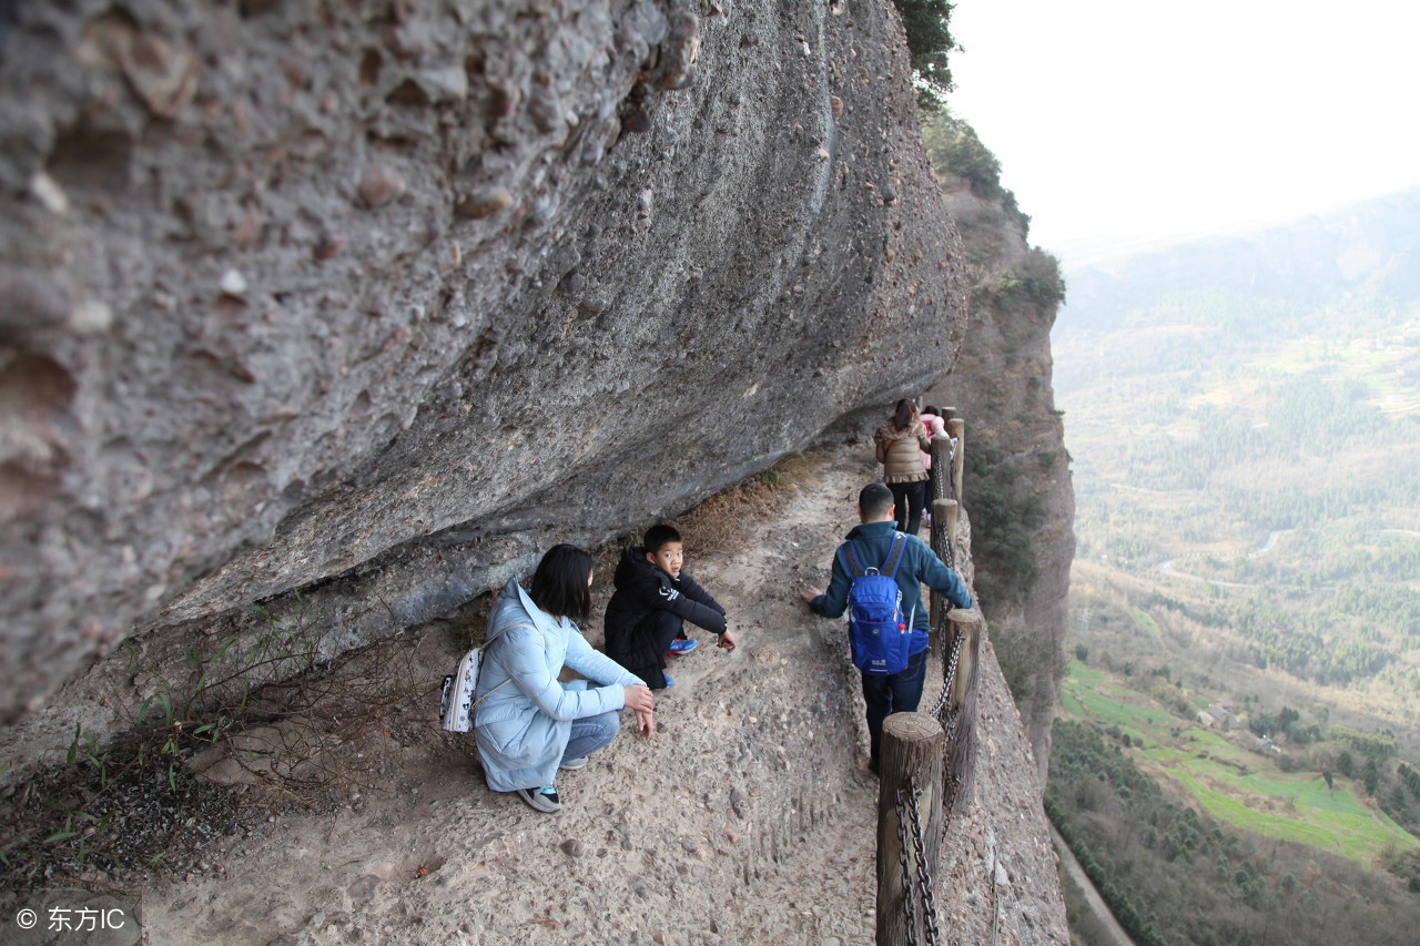
[{"label": "patch of dry weeds and dark soil under overhang, lower left", "polygon": [[375,790],[388,773],[371,747],[423,739],[437,702],[422,641],[400,634],[239,702],[165,696],[108,747],[75,730],[62,764],[0,804],[0,891],[179,878],[243,824]]}]

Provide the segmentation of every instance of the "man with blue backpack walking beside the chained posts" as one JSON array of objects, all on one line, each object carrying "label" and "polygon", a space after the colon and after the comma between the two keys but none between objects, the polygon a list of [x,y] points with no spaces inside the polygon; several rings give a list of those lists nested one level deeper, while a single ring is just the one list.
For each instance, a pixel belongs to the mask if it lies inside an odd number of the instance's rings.
[{"label": "man with blue backpack walking beside the chained posts", "polygon": [[868,766],[876,773],[883,720],[914,713],[922,702],[932,626],[922,585],[944,594],[954,608],[970,608],[971,592],[927,543],[896,530],[892,490],[882,483],[858,494],[858,518],[834,555],[828,591],[809,587],[801,594],[819,616],[849,612],[848,641],[868,705]]}]

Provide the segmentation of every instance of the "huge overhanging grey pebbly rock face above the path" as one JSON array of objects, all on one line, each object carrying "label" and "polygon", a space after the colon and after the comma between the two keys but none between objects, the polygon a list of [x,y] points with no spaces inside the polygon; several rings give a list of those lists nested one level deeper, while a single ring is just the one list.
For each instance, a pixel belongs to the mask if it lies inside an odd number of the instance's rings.
[{"label": "huge overhanging grey pebbly rock face above the path", "polygon": [[961,344],[886,3],[30,0],[0,57],[11,743],[125,639],[133,703],[356,646]]}]

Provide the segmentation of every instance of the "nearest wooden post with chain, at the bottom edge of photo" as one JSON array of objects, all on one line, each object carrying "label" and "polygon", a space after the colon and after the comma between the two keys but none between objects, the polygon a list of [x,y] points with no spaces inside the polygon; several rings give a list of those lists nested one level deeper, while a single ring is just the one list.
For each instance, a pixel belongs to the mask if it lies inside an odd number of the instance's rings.
[{"label": "nearest wooden post with chain, at the bottom edge of photo", "polygon": [[[882,783],[878,790],[878,946],[907,946],[927,942],[927,909],[917,878],[936,882],[941,864],[941,760],[946,734],[926,713],[893,713],[883,722]],[[922,861],[913,849],[913,830],[909,821],[899,837],[897,790],[905,805],[910,803],[912,787],[917,797],[922,837]],[[905,807],[906,811],[906,807]],[[902,838],[907,839],[903,858]],[[902,865],[906,859],[907,874]],[[913,929],[907,928],[905,899],[907,879],[912,878]]]}]

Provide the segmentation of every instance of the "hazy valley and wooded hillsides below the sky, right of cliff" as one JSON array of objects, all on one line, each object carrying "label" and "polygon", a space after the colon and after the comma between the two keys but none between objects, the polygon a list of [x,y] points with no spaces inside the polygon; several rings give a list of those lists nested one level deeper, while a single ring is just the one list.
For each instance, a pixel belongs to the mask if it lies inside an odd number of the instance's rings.
[{"label": "hazy valley and wooded hillsides below the sky, right of cliff", "polygon": [[[1079,544],[1062,716],[1085,729],[1069,759],[1052,756],[1052,805],[1068,824],[1163,831],[1133,810],[1149,791],[1118,773],[1092,774],[1123,801],[1082,794],[1079,747],[1102,739],[1169,804],[1217,818],[1201,837],[1240,831],[1242,848],[1271,851],[1250,861],[1261,892],[1225,878],[1228,909],[1262,910],[1252,920],[1216,925],[1234,932],[1214,939],[1166,920],[1159,942],[1284,942],[1268,909],[1322,910],[1315,885],[1294,898],[1294,868],[1267,866],[1301,857],[1278,844],[1312,845],[1342,889],[1420,886],[1407,854],[1420,832],[1417,240],[1411,190],[1066,273],[1054,352]],[[1125,888],[1150,858],[1159,871],[1233,858],[1127,834],[1100,828],[1093,842],[1118,842],[1103,859]],[[1150,901],[1150,882],[1133,882],[1140,915],[1166,918],[1164,888]],[[1221,918],[1207,886],[1179,896]],[[1420,910],[1404,901],[1356,942],[1411,930]]]}]

